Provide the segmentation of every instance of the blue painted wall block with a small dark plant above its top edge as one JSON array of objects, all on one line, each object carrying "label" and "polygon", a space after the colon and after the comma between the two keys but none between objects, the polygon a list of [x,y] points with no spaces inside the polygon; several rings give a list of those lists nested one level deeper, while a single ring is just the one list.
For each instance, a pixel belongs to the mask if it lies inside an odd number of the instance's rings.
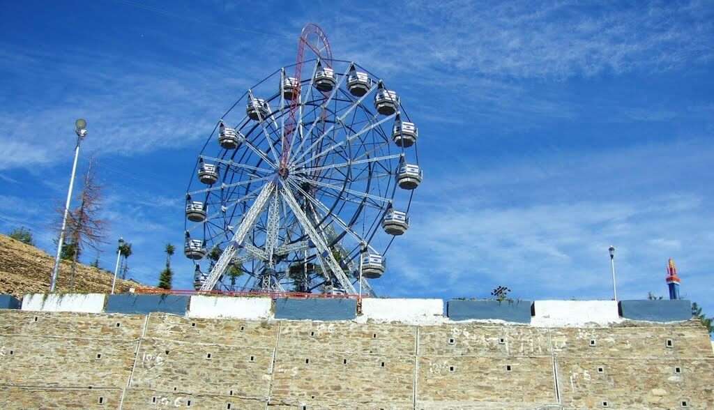
[{"label": "blue painted wall block with a small dark plant above its top edge", "polygon": [[451,300],[446,315],[451,320],[500,319],[531,323],[532,301],[466,301]]}]

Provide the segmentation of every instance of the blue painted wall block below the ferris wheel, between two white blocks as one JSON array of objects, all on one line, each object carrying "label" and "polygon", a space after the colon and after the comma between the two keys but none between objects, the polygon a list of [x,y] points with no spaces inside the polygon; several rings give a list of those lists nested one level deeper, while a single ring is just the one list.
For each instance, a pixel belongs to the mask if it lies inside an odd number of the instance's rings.
[{"label": "blue painted wall block below the ferris wheel, between two white blocks", "polygon": [[354,299],[277,299],[276,319],[351,320],[357,317]]}]

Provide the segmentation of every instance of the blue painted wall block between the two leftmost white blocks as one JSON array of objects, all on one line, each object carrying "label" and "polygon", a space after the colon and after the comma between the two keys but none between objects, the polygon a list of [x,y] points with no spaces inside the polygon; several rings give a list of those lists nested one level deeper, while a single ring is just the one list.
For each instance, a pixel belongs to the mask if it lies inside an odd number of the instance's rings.
[{"label": "blue painted wall block between the two leftmost white blocks", "polygon": [[106,301],[106,313],[149,314],[163,312],[185,315],[190,296],[177,295],[109,295]]}]

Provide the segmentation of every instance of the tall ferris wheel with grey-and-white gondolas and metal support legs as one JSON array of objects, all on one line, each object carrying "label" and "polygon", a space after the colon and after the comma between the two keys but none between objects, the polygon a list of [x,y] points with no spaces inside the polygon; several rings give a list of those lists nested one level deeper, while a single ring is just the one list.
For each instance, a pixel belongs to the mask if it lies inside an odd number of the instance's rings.
[{"label": "tall ferris wheel with grey-and-white gondolas and metal support legs", "polygon": [[298,62],[248,89],[198,155],[184,245],[196,289],[371,293],[409,227],[417,139],[396,91],[333,59],[308,24]]}]

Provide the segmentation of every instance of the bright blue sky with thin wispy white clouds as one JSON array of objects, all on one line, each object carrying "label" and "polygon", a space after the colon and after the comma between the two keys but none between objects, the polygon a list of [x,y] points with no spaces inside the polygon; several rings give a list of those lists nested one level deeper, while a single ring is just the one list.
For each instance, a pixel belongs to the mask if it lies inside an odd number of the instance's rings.
[{"label": "bright blue sky with thin wispy white clouds", "polygon": [[[23,1],[0,27],[0,230],[48,229],[73,124],[105,185],[113,267],[154,284],[216,119],[292,64],[308,21],[400,92],[426,172],[381,295],[608,299],[682,293],[714,314],[714,3]],[[96,255],[88,252],[87,262]],[[174,257],[174,287],[191,264]],[[49,273],[48,273],[49,274]]]}]

